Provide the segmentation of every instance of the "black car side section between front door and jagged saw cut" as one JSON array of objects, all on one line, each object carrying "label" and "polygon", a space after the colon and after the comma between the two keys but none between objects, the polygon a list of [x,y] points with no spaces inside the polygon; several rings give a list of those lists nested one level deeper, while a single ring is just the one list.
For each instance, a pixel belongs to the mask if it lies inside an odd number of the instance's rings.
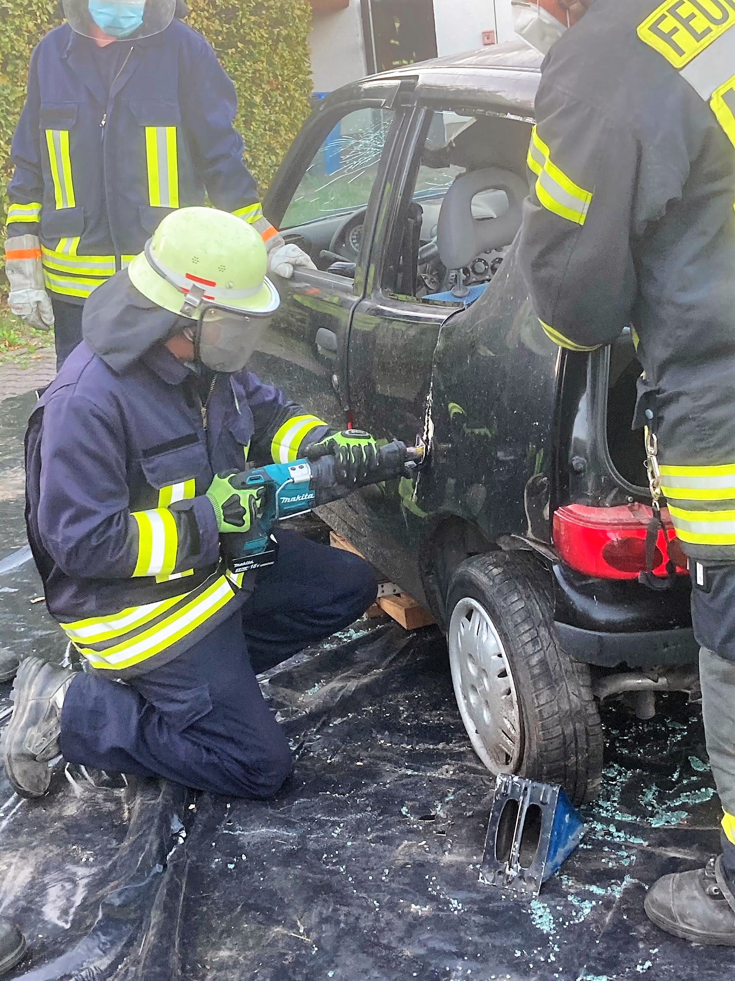
[{"label": "black car side section between front door and jagged saw cut", "polygon": [[[417,298],[404,269],[416,245],[417,223],[419,237],[430,237],[443,195],[459,172],[447,167],[429,174],[421,155],[432,142],[446,138],[445,123],[451,128],[464,120],[452,114],[445,121],[415,107],[393,155],[365,295],[353,315],[348,362],[355,425],[377,439],[402,439],[413,445],[424,436],[439,332],[448,317],[464,308],[461,300]],[[340,505],[340,517],[360,531],[373,564],[421,599],[413,549],[422,534],[423,515],[414,490],[415,482],[408,479],[367,488]]]}]

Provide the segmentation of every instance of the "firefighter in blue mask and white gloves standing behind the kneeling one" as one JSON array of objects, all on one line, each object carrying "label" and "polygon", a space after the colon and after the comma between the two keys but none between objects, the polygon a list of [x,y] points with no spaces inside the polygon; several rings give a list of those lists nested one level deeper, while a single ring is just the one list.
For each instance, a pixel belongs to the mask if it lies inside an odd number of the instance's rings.
[{"label": "firefighter in blue mask and white gloves standing behind the kneeling one", "polygon": [[172,209],[205,196],[260,232],[271,273],[313,269],[264,218],[232,125],[234,86],[207,41],[178,19],[182,0],[63,7],[67,23],[30,60],[5,246],[11,309],[39,330],[56,322],[57,366],[81,339],[90,293]]}]

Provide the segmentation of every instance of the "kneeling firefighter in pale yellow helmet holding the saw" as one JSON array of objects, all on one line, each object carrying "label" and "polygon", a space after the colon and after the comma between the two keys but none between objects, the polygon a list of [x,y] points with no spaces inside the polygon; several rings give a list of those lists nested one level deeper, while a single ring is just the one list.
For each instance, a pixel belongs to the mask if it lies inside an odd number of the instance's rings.
[{"label": "kneeling firefighter in pale yellow helmet holding the saw", "polygon": [[375,598],[367,563],[293,532],[258,572],[221,560],[221,536],[260,514],[262,491],[235,480],[246,461],[333,452],[349,485],[375,447],[332,439],[245,370],[279,302],[266,268],[247,223],[173,212],[87,301],[84,340],[30,417],[28,538],[48,608],[89,671],[21,665],[4,757],[25,797],[48,790],[59,753],[270,796],[291,753],[256,674]]}]

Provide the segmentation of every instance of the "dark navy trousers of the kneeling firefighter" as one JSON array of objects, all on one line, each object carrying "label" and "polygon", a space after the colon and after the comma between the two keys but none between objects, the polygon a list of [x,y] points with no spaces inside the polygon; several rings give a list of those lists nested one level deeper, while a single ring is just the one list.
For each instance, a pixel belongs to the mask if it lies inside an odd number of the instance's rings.
[{"label": "dark navy trousers of the kneeling firefighter", "polygon": [[256,674],[347,627],[377,593],[358,556],[293,532],[278,540],[252,596],[200,643],[126,684],[75,676],[62,711],[67,760],[231,797],[275,794],[291,751]]}]

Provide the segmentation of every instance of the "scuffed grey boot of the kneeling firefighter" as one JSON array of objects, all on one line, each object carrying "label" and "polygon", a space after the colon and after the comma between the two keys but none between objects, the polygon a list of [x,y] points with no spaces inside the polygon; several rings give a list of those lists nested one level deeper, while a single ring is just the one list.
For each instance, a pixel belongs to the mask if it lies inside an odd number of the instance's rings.
[{"label": "scuffed grey boot of the kneeling firefighter", "polygon": [[49,762],[60,755],[62,704],[74,673],[40,657],[26,657],[18,669],[3,761],[8,780],[21,797],[43,797],[49,789]]}]

